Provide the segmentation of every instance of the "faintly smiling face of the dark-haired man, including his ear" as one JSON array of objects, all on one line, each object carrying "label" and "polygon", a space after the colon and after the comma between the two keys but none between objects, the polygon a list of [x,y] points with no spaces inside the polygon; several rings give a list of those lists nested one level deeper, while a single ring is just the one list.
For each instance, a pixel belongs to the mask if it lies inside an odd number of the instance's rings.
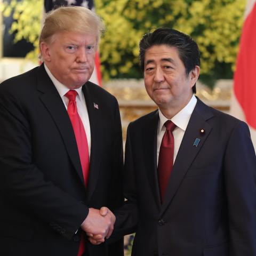
[{"label": "faintly smiling face of the dark-haired man, including his ear", "polygon": [[192,97],[199,67],[186,75],[178,50],[168,45],[151,46],[145,53],[144,81],[149,97],[160,109],[181,110]]}]

